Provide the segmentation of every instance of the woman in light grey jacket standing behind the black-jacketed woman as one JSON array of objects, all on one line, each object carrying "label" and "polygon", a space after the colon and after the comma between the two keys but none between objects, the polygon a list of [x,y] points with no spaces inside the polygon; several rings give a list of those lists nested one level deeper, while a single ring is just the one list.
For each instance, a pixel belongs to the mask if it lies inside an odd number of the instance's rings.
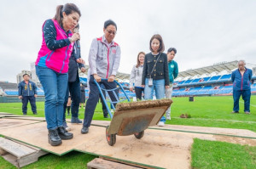
[{"label": "woman in light grey jacket standing behind the black-jacketed woman", "polygon": [[142,87],[144,58],[144,52],[140,52],[139,54],[137,54],[137,65],[134,65],[132,67],[130,76],[130,91],[133,92],[134,87],[136,97],[140,100],[142,100],[142,94],[144,92],[144,87]]}]

